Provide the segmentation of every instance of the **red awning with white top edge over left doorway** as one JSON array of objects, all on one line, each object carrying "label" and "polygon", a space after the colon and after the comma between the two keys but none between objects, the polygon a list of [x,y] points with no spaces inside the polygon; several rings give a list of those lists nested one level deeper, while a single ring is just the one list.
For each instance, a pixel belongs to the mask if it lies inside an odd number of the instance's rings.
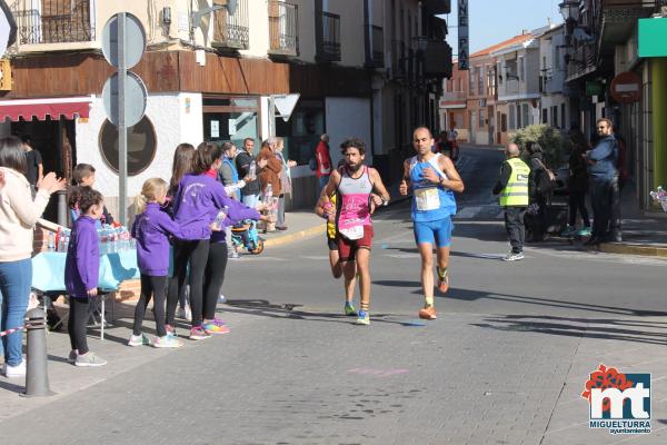
[{"label": "red awning with white top edge over left doorway", "polygon": [[92,102],[92,98],[89,96],[0,100],[0,122],[4,122],[7,119],[16,122],[20,118],[47,120],[47,116],[52,120],[58,120],[60,117],[66,119],[88,118],[90,102]]}]

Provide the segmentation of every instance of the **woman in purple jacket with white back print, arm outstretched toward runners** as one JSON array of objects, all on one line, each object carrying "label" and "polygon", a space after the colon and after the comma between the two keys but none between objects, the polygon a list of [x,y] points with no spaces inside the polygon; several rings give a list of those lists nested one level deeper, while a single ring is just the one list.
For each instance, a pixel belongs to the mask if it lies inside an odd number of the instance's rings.
[{"label": "woman in purple jacket with white back print, arm outstretched toward runners", "polygon": [[[246,218],[259,219],[259,214],[238,201],[229,198],[225,187],[217,181],[217,174],[222,164],[222,149],[215,144],[203,142],[197,148],[192,162],[192,172],[183,176],[178,186],[178,191],[173,199],[175,221],[181,227],[181,235],[175,243],[173,267],[175,276],[178,278],[178,289],[183,286],[188,263],[190,264],[190,307],[192,308],[192,327],[190,329],[190,339],[200,340],[210,337],[210,330],[202,326],[205,307],[215,306],[218,299],[218,293],[215,293],[215,300],[211,303],[208,293],[206,300],[203,297],[203,277],[207,263],[209,260],[209,250],[211,245],[211,222],[220,209],[228,207],[227,218],[229,221],[239,221]],[[213,251],[222,249],[218,245],[219,238],[213,239]],[[171,297],[169,299],[172,299]],[[210,325],[210,324],[209,324]]]}]

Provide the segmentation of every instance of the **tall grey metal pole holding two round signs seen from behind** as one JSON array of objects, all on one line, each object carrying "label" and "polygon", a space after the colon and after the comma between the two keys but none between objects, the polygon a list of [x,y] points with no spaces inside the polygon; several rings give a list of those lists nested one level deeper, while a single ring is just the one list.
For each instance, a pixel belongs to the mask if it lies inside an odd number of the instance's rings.
[{"label": "tall grey metal pole holding two round signs seen from behind", "polygon": [[126,127],[126,93],[128,66],[126,60],[126,13],[118,13],[118,207],[120,224],[128,226],[128,129]]}]

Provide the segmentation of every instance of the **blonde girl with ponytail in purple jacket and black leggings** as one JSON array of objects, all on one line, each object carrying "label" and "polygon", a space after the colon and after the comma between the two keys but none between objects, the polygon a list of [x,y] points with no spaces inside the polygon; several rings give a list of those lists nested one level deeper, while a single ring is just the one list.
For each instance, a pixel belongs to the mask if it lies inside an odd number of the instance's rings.
[{"label": "blonde girl with ponytail in purple jacket and black leggings", "polygon": [[155,347],[180,347],[183,344],[168,335],[165,329],[165,298],[169,271],[169,236],[182,237],[181,226],[161,209],[167,200],[169,185],[160,178],[143,182],[141,194],[135,198],[137,218],[132,225],[132,237],[137,239],[137,263],[141,271],[141,296],[135,309],[135,326],[129,346],[150,345],[141,333],[143,316],[150,298],[153,298],[153,315],[158,338]]}]

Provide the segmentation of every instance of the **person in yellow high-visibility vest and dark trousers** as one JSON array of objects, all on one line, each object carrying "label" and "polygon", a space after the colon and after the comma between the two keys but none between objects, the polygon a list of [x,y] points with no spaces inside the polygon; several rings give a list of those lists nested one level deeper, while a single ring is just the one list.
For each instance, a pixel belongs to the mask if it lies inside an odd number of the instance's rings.
[{"label": "person in yellow high-visibility vest and dark trousers", "polygon": [[526,228],[524,216],[528,207],[528,176],[530,167],[519,158],[519,146],[509,144],[505,150],[507,159],[500,168],[494,195],[500,195],[500,206],[505,209],[505,229],[511,245],[511,251],[504,261],[524,259]]}]

